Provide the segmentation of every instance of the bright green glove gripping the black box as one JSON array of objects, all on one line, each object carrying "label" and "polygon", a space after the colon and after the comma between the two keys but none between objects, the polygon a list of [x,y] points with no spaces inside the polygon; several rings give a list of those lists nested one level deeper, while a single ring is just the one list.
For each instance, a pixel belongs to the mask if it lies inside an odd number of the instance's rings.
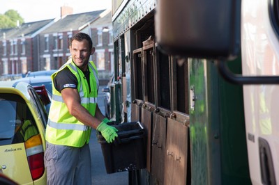
[{"label": "bright green glove gripping the black box", "polygon": [[110,125],[107,125],[107,122],[110,122],[110,120],[108,120],[107,118],[103,119],[97,127],[97,130],[100,131],[107,143],[112,143],[112,141],[114,141],[114,139],[118,136],[116,133],[118,129]]}]

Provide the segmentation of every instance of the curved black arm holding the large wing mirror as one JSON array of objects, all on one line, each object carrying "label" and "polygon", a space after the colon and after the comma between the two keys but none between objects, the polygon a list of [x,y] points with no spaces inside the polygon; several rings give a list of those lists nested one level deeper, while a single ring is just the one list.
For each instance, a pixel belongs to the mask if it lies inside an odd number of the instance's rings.
[{"label": "curved black arm holding the large wing mirror", "polygon": [[244,84],[279,84],[279,76],[242,76],[241,74],[232,73],[225,61],[216,60],[215,61],[219,74],[229,81],[230,83],[236,83],[239,85]]}]

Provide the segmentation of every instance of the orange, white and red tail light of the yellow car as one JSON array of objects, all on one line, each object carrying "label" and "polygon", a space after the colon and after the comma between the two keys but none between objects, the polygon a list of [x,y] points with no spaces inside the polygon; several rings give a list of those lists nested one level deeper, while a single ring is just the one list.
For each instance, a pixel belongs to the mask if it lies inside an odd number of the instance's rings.
[{"label": "orange, white and red tail light of the yellow car", "polygon": [[36,180],[45,172],[43,142],[40,134],[29,138],[24,144],[31,176],[33,180]]}]

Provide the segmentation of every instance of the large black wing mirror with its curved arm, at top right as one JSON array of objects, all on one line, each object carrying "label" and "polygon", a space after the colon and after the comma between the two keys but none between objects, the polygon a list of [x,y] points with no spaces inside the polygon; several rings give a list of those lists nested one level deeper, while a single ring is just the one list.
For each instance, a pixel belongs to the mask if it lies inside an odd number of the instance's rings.
[{"label": "large black wing mirror with its curved arm, at top right", "polygon": [[167,54],[213,59],[232,83],[279,83],[276,76],[245,77],[227,68],[241,48],[241,0],[160,0],[155,22],[158,47]]}]

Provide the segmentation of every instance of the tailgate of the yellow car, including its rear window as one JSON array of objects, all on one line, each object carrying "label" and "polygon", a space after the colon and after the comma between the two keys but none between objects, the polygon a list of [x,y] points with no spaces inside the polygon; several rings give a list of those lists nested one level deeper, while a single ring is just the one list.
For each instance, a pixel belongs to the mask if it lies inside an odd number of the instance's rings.
[{"label": "tailgate of the yellow car, including its rear window", "polygon": [[24,138],[20,134],[22,121],[30,115],[29,108],[20,95],[0,92],[0,100],[0,172],[17,183],[31,183]]}]

